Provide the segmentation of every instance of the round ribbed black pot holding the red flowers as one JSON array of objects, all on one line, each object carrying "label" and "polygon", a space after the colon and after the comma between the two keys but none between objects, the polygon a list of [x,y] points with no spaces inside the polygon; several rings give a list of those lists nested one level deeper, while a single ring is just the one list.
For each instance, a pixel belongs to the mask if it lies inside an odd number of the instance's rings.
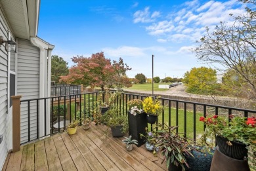
[{"label": "round ribbed black pot holding the red flowers", "polygon": [[228,139],[222,136],[216,136],[216,142],[219,146],[219,150],[224,155],[231,157],[233,159],[243,160],[245,156],[247,156],[248,150],[246,149],[246,145],[240,142],[232,142],[232,145],[228,145]]}]

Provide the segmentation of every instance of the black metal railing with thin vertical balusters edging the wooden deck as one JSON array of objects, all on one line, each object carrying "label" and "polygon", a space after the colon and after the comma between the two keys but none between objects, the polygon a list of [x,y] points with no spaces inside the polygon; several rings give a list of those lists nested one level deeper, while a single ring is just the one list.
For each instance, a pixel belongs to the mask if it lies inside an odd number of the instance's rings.
[{"label": "black metal railing with thin vertical balusters edging the wooden deck", "polygon": [[[71,96],[74,96],[74,98]],[[144,100],[146,97],[139,94],[122,93],[116,98],[114,105],[121,110],[123,115],[127,115],[129,110],[127,102],[129,100],[135,98]],[[73,118],[80,119],[80,121],[86,117],[93,117],[94,119],[93,110],[97,109],[97,98],[98,92],[89,92],[85,94],[21,100],[21,120],[23,125],[21,142],[27,143],[64,131]],[[161,104],[165,107],[162,115],[158,117],[157,123],[169,126],[178,125],[177,132],[182,132],[184,136],[194,140],[203,133],[205,128],[205,125],[199,122],[201,116],[223,115],[228,118],[228,115],[236,114],[243,117],[256,117],[256,111],[249,109],[168,98],[159,98],[159,100],[161,100]],[[152,129],[152,124],[149,127]]]}]

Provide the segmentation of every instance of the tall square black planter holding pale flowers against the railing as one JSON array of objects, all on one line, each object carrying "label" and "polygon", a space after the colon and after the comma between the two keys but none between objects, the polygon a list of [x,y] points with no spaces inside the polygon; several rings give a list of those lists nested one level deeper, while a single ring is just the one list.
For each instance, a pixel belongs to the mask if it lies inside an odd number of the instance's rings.
[{"label": "tall square black planter holding pale flowers against the railing", "polygon": [[140,147],[145,143],[145,138],[140,138],[140,134],[146,135],[146,127],[148,127],[148,123],[146,121],[146,113],[140,113],[132,115],[128,111],[128,123],[129,123],[129,135],[132,136],[133,140],[138,141],[137,147]]}]

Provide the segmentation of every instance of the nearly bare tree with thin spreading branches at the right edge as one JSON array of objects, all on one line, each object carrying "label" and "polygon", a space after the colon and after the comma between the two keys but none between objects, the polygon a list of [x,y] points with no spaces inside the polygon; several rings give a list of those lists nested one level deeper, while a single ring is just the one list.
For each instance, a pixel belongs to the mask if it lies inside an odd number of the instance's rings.
[{"label": "nearly bare tree with thin spreading branches at the right edge", "polygon": [[236,72],[240,81],[247,84],[247,94],[252,92],[256,98],[255,1],[241,1],[248,5],[246,12],[239,16],[230,14],[233,24],[221,22],[213,32],[206,28],[207,34],[197,41],[200,45],[192,50],[198,59],[213,65],[221,64],[224,71]]}]

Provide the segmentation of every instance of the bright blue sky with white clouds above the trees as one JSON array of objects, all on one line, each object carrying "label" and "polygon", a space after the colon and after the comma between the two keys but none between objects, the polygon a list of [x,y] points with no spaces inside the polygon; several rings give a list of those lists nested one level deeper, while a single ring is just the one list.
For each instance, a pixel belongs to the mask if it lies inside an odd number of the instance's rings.
[{"label": "bright blue sky with white clouds above the trees", "polygon": [[106,58],[123,58],[131,71],[182,77],[198,61],[190,48],[229,14],[244,13],[237,0],[230,1],[41,1],[38,36],[55,45],[53,54],[72,66],[73,56],[89,57],[103,51]]}]

